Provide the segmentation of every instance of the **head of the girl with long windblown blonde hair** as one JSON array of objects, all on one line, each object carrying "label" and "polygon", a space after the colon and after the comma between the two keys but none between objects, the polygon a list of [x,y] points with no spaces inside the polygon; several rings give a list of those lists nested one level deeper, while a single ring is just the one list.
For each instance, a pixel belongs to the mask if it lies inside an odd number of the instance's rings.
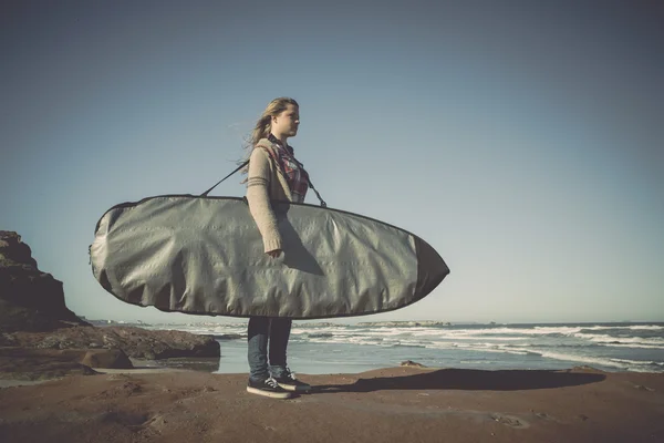
[{"label": "head of the girl with long windblown blonde hair", "polygon": [[259,140],[267,138],[270,132],[277,137],[293,137],[300,124],[300,105],[293,99],[279,97],[272,100],[256,123],[249,140],[249,147],[256,146]]}]

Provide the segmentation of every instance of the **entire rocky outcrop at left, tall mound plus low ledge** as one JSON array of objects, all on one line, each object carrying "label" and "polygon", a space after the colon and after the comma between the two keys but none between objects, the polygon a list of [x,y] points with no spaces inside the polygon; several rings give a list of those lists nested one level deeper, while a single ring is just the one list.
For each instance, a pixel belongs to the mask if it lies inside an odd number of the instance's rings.
[{"label": "entire rocky outcrop at left, tall mound plus low ledge", "polygon": [[62,281],[42,272],[30,247],[0,230],[0,378],[35,380],[91,368],[132,368],[129,358],[219,357],[211,336],[94,327],[69,310]]}]

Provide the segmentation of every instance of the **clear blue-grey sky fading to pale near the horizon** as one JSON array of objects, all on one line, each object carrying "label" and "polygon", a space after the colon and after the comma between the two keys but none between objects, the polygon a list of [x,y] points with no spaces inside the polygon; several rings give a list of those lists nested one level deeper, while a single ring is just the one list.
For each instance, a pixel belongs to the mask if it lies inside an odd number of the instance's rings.
[{"label": "clear blue-grey sky fading to pale near the horizon", "polygon": [[89,319],[232,321],[118,301],[87,247],[116,204],[210,187],[292,96],[328,205],[452,269],[355,320],[662,321],[663,20],[626,0],[3,1],[0,229]]}]

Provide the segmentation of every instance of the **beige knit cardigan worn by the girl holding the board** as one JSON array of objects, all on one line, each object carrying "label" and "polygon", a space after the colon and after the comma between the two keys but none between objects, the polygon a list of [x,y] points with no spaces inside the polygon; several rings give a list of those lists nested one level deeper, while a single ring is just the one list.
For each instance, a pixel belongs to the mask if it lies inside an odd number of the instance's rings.
[{"label": "beige knit cardigan worn by the girl holding the board", "polygon": [[273,146],[272,142],[261,138],[251,151],[247,175],[247,202],[262,236],[266,253],[282,249],[281,235],[270,200],[293,199],[281,168],[270,155],[276,150],[277,146]]}]

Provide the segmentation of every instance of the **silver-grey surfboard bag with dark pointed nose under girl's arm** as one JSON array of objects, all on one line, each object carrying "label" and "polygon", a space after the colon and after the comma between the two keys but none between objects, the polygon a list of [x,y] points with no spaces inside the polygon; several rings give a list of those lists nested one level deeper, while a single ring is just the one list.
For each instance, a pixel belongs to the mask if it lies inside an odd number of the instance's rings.
[{"label": "silver-grey surfboard bag with dark pointed nose under girl's arm", "polygon": [[94,277],[125,302],[163,311],[317,319],[408,306],[449,272],[424,240],[343,210],[273,202],[283,255],[270,258],[247,203],[165,195],[98,220]]}]

